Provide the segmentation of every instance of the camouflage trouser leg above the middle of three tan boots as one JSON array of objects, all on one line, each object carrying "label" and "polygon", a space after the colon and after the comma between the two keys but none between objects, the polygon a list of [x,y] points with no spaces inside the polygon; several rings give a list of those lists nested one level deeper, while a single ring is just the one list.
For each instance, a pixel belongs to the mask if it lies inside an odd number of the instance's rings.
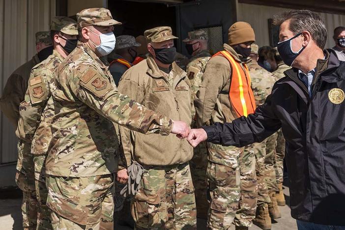
[{"label": "camouflage trouser leg above the middle of three tan boots", "polygon": [[274,168],[276,159],[277,136],[277,133],[273,134],[272,136],[267,138],[266,142],[264,181],[267,184],[269,193],[279,192],[276,181],[276,171]]}]

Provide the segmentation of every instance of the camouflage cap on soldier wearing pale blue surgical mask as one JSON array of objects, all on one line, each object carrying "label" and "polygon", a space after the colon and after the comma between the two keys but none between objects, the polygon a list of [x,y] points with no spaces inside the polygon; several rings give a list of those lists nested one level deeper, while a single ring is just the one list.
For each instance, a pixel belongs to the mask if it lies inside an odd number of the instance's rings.
[{"label": "camouflage cap on soldier wearing pale blue surgical mask", "polygon": [[109,9],[106,8],[88,8],[77,13],[78,28],[91,25],[108,27],[121,25],[113,19]]}]

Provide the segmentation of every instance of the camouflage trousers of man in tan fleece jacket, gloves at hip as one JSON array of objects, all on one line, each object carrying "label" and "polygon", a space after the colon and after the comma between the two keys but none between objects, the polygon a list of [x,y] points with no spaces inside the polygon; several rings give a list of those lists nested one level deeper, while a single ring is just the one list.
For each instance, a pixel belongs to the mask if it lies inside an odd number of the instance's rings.
[{"label": "camouflage trousers of man in tan fleece jacket, gloves at hip", "polygon": [[136,229],[196,230],[197,211],[189,164],[144,166],[131,211]]}]

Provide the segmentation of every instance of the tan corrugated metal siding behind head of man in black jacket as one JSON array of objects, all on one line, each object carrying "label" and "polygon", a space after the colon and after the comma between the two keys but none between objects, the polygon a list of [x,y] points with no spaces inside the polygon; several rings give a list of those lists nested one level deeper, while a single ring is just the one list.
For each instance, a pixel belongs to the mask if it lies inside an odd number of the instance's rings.
[{"label": "tan corrugated metal siding behind head of man in black jacket", "polygon": [[[238,3],[237,20],[245,21],[252,25],[255,30],[256,43],[259,46],[269,45],[268,19],[273,15],[289,10],[287,8]],[[328,31],[326,48],[333,47],[333,29],[345,26],[345,15],[319,13],[325,20]]]}]

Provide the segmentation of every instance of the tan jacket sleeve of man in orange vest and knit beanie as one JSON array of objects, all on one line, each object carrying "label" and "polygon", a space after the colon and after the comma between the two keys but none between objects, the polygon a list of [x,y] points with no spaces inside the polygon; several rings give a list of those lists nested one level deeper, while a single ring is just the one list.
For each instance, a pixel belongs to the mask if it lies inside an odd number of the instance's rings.
[{"label": "tan jacket sleeve of man in orange vest and knit beanie", "polygon": [[198,127],[211,119],[218,94],[226,85],[231,74],[230,68],[223,63],[219,63],[217,61],[218,58],[222,57],[214,57],[213,61],[211,59],[207,63],[199,91],[194,99],[196,124]]}]

